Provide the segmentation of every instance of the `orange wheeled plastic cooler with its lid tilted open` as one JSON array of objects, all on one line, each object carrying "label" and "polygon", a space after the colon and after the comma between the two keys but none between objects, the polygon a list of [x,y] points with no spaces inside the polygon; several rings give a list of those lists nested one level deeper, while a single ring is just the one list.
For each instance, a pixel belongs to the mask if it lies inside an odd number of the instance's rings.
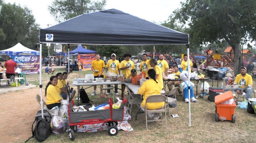
[{"label": "orange wheeled plastic cooler with its lid tilted open", "polygon": [[220,104],[232,98],[234,98],[234,96],[231,91],[227,91],[220,95],[215,96],[215,104],[216,104],[215,121],[219,121],[220,118],[224,117],[226,118],[227,121],[232,121],[232,123],[235,123],[236,103],[233,102],[233,104]]}]

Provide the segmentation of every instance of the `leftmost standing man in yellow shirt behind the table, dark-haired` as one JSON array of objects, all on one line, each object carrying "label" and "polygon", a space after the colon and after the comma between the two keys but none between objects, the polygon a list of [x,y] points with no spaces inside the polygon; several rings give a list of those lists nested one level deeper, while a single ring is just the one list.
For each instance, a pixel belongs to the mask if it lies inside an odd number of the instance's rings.
[{"label": "leftmost standing man in yellow shirt behind the table, dark-haired", "polygon": [[[103,60],[100,59],[99,53],[96,53],[95,57],[96,57],[96,59],[92,61],[92,67],[91,67],[91,69],[93,71],[94,78],[104,78],[103,71],[104,71],[105,63]],[[101,85],[101,86],[103,87],[103,85]],[[93,86],[94,91],[91,96],[96,95],[96,87],[97,87],[97,85]]]}]

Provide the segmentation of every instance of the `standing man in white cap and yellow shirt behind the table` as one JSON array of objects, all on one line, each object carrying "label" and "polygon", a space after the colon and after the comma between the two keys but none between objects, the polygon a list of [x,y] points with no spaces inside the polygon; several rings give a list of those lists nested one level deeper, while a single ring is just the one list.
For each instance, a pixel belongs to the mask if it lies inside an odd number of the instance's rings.
[{"label": "standing man in white cap and yellow shirt behind the table", "polygon": [[[106,65],[106,72],[110,71],[113,73],[116,73],[117,75],[120,74],[120,63],[118,60],[116,60],[116,54],[112,53],[111,54],[111,59],[107,62]],[[117,84],[115,84],[115,95],[119,95],[117,91]],[[108,85],[110,87],[110,85]],[[110,90],[107,90],[106,95],[110,95]]]}]

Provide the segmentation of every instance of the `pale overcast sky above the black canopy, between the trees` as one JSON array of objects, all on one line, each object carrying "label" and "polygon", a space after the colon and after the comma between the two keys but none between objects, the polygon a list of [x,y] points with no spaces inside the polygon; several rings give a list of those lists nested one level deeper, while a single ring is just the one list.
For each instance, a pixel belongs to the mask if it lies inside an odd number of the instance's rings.
[{"label": "pale overcast sky above the black canopy, between the trees", "polygon": [[[4,0],[5,3],[16,3],[22,7],[26,5],[32,10],[36,22],[41,28],[47,24],[55,25],[57,22],[50,15],[48,5],[53,0]],[[183,0],[107,0],[105,9],[118,9],[151,22],[164,22],[172,12],[180,7]]]}]

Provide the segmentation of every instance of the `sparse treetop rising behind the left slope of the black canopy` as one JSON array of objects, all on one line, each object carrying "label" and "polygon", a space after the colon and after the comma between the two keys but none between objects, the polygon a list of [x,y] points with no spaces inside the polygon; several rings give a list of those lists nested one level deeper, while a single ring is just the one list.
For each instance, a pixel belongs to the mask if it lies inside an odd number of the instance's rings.
[{"label": "sparse treetop rising behind the left slope of the black canopy", "polygon": [[54,0],[48,6],[48,9],[56,21],[62,22],[84,13],[103,10],[105,5],[106,0],[102,0],[101,2],[91,0]]}]

